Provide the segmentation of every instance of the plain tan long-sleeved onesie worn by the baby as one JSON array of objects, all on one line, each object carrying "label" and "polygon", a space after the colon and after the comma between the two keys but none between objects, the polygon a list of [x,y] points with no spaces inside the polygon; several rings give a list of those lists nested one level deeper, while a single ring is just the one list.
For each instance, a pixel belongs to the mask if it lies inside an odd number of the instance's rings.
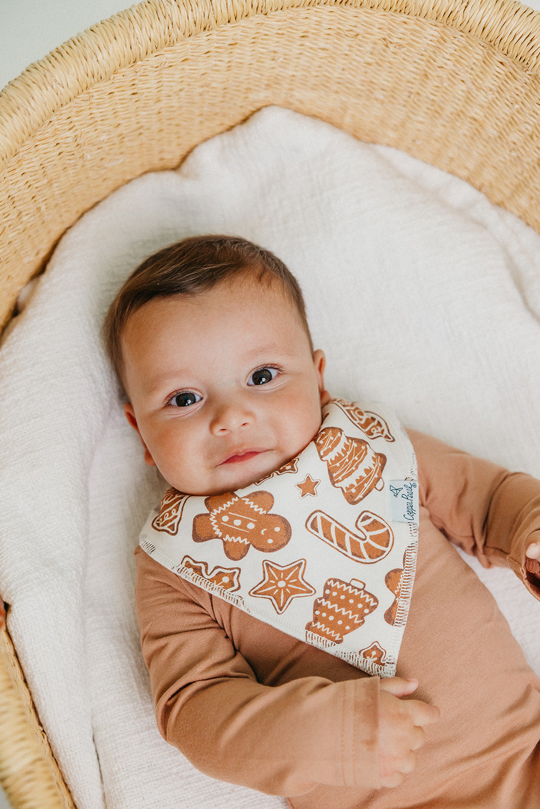
[{"label": "plain tan long-sleeved onesie worn by the baby", "polygon": [[[397,676],[438,705],[418,765],[379,788],[379,680],[261,623],[137,549],[137,610],[159,731],[212,777],[294,809],[538,809],[540,680],[447,539],[540,597],[540,482],[410,430],[417,573]],[[537,532],[536,534],[534,532]],[[531,595],[531,598],[533,595]]]}]

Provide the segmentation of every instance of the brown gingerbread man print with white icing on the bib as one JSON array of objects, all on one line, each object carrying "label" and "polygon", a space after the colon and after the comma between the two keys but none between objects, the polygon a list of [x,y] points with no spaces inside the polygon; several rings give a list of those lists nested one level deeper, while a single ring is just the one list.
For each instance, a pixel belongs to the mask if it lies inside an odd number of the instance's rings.
[{"label": "brown gingerbread man print with white icing on the bib", "polygon": [[229,559],[243,559],[251,546],[274,553],[291,539],[291,523],[279,514],[269,513],[274,506],[270,492],[252,492],[241,498],[235,492],[226,492],[206,498],[204,504],[208,512],[193,518],[193,541],[218,538]]}]

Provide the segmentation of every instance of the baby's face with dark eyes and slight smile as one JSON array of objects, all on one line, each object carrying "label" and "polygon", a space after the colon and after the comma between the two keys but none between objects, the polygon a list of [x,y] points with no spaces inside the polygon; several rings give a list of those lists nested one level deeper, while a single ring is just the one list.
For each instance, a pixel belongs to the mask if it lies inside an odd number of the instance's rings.
[{"label": "baby's face with dark eyes and slight smile", "polygon": [[155,299],[122,335],[125,413],[147,464],[187,494],[241,489],[294,458],[321,426],[322,351],[278,284],[223,283]]}]

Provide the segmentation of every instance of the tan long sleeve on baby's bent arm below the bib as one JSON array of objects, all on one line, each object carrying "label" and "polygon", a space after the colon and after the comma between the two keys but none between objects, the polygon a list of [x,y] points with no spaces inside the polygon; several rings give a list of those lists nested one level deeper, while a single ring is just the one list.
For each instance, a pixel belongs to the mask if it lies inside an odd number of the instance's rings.
[{"label": "tan long sleeve on baby's bent arm below the bib", "polygon": [[[242,634],[261,635],[266,625],[141,549],[136,559],[142,651],[159,731],[169,743],[202,772],[268,794],[304,794],[319,784],[379,786],[377,678],[261,684],[238,647]],[[234,644],[219,609],[232,612]],[[285,636],[273,631],[279,643]]]}]

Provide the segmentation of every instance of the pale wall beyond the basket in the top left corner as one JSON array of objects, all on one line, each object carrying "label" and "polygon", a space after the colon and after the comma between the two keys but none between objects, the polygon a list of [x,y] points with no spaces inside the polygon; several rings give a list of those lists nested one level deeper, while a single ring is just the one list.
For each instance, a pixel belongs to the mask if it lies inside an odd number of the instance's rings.
[{"label": "pale wall beyond the basket in the top left corner", "polygon": [[[540,11],[540,0],[528,5]],[[129,6],[125,0],[0,0],[0,88],[58,44]],[[0,809],[9,809],[1,789]]]}]

